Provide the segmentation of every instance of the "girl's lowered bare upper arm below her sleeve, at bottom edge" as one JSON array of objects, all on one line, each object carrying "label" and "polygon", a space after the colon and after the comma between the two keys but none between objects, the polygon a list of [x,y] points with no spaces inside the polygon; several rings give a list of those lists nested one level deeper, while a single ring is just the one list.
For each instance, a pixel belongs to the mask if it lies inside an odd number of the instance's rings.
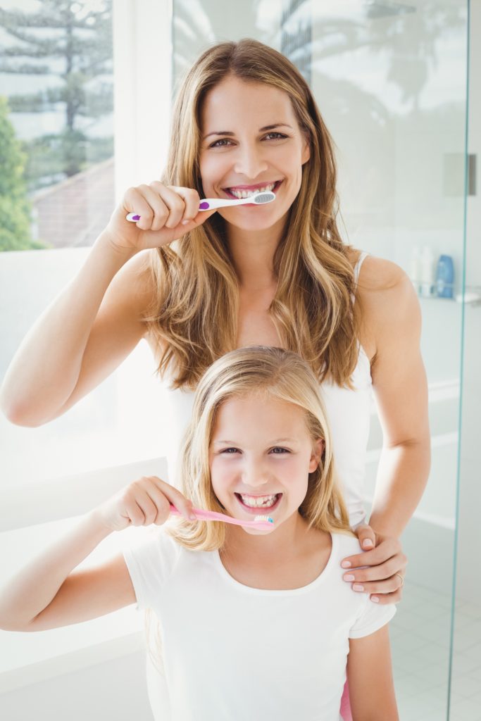
[{"label": "girl's lowered bare upper arm below her sleeve, at bottom edge", "polygon": [[353,721],[399,721],[389,624],[369,636],[349,639],[347,674]]}]

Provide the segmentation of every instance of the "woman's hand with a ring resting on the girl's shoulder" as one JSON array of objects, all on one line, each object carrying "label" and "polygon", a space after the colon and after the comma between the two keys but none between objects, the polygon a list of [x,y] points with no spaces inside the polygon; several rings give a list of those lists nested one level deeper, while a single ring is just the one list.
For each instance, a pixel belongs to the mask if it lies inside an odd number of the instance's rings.
[{"label": "woman's hand with a ring resting on the girl's shoulder", "polygon": [[[344,580],[353,584],[351,588],[354,591],[369,593],[369,598],[374,603],[399,603],[402,598],[402,582],[399,575],[394,574],[399,573],[404,578],[407,566],[407,557],[402,552],[399,539],[376,534],[367,523],[357,526],[353,531],[358,536],[361,547],[372,550],[343,559],[343,568],[345,562],[350,563],[344,573]],[[366,540],[371,540],[371,545],[366,545]],[[357,570],[360,566],[369,568]],[[349,579],[346,576],[354,578]],[[359,584],[362,588],[358,588]]]}]

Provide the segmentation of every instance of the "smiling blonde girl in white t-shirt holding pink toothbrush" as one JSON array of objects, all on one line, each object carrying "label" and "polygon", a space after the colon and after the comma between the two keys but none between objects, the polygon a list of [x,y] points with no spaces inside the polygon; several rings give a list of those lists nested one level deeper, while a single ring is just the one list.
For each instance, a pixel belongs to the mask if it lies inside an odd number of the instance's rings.
[{"label": "smiling blonde girl in white t-shirt holding pink toothbrush", "polygon": [[[182,493],[142,478],[84,516],[6,587],[1,627],[51,629],[137,601],[159,622],[156,719],[337,721],[347,661],[353,721],[398,721],[387,627],[396,606],[343,584],[340,559],[361,549],[307,363],[260,346],[213,363],[180,479]],[[185,518],[72,572],[112,531],[164,524],[170,503]],[[273,526],[191,521],[191,504],[242,521],[268,514]]]}]

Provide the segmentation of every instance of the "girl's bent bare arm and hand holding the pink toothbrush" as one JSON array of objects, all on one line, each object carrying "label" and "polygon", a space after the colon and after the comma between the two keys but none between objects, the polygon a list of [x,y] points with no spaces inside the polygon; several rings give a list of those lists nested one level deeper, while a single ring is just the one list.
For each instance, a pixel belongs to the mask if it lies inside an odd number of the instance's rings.
[{"label": "girl's bent bare arm and hand holding the pink toothbrush", "polygon": [[69,534],[48,547],[0,590],[0,628],[45,631],[97,618],[136,602],[122,554],[107,563],[72,570],[112,531],[160,526],[170,503],[187,518],[192,503],[152,476],[134,481],[82,516]]}]

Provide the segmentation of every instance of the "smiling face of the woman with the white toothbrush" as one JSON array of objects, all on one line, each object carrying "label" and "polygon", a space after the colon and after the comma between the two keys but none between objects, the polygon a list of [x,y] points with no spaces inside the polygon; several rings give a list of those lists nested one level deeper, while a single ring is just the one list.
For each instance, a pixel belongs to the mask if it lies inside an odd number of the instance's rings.
[{"label": "smiling face of the woman with the white toothbrush", "polygon": [[282,90],[228,76],[206,94],[199,158],[206,198],[234,199],[229,189],[276,184],[272,203],[220,208],[229,223],[260,230],[283,218],[299,193],[309,156],[309,143]]}]

